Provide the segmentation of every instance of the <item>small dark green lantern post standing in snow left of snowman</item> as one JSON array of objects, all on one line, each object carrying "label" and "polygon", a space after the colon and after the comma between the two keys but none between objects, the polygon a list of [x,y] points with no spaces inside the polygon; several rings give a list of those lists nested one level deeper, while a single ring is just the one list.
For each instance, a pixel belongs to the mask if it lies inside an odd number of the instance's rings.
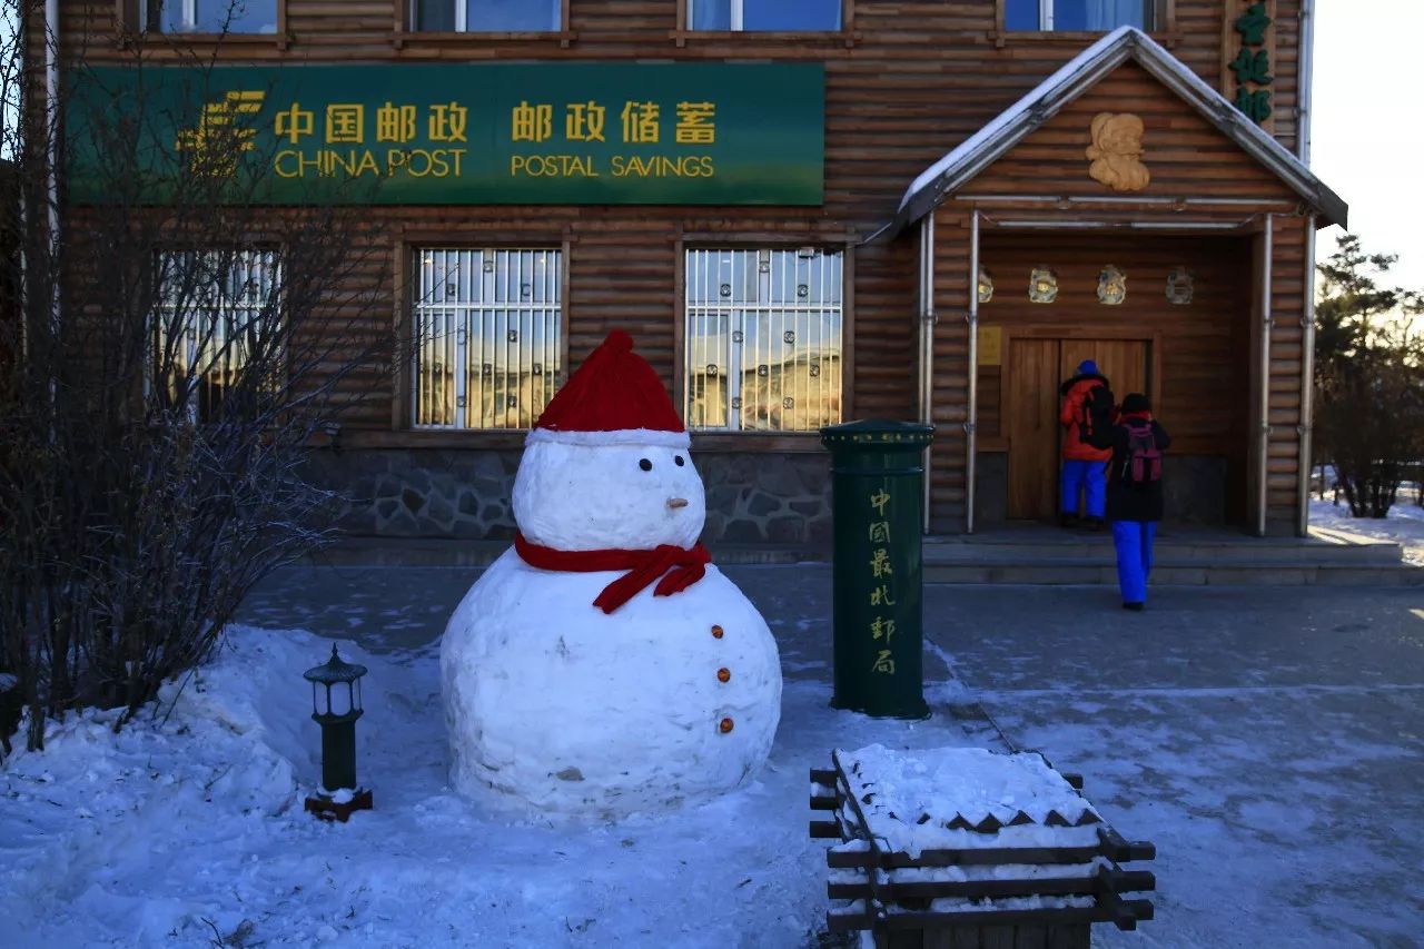
[{"label": "small dark green lantern post standing in snow left of snowman", "polygon": [[[356,720],[362,717],[360,677],[365,665],[332,658],[302,673],[312,684],[312,718],[322,727],[322,792],[306,798],[306,809],[323,821],[345,822],[353,811],[369,811],[370,789],[356,787]],[[335,690],[335,695],[333,695]]]}]

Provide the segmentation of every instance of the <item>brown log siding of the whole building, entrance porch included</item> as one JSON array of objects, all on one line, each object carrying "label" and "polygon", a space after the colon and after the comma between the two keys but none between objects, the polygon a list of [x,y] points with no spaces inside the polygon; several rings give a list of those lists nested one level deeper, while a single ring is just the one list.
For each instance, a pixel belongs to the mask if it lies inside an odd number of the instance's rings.
[{"label": "brown log siding of the whole building, entrance porch included", "polygon": [[[137,23],[137,1],[61,0],[64,56],[132,61],[135,47],[125,31]],[[975,279],[970,264],[975,258],[994,274],[998,288],[977,316],[984,326],[1001,328],[1005,359],[1014,339],[1139,339],[1148,346],[1145,372],[1162,415],[1182,433],[1180,450],[1225,459],[1230,482],[1225,494],[1232,499],[1225,517],[1260,530],[1294,529],[1302,426],[1309,423],[1299,412],[1307,235],[1326,218],[1314,221],[1310,202],[1139,64],[1124,63],[953,197],[937,195],[930,214],[900,221],[910,227],[883,239],[917,175],[1102,34],[1004,31],[1002,0],[843,0],[843,28],[805,34],[693,31],[682,3],[565,0],[560,28],[548,33],[423,34],[409,28],[407,1],[279,0],[276,36],[181,37],[171,44],[151,38],[142,57],[152,64],[182,63],[197,50],[222,64],[292,67],[817,61],[826,68],[824,202],[812,208],[372,208],[370,245],[362,249],[376,254],[367,271],[347,278],[353,286],[345,289],[389,299],[384,312],[393,325],[409,318],[409,301],[399,288],[410,249],[422,242],[560,247],[567,266],[565,365],[578,365],[609,329],[624,326],[678,399],[686,248],[852,251],[844,268],[844,418],[933,420],[938,435],[927,527],[961,531],[974,529],[967,502],[975,456],[965,426],[978,426],[977,452],[1012,452],[1005,439],[1017,422],[1005,413],[1027,405],[1005,363],[975,366],[973,382],[983,399],[971,406],[968,318]],[[1219,88],[1229,51],[1223,36],[1237,6],[1163,0],[1152,36],[1185,71]],[[1302,98],[1300,4],[1277,0],[1272,9],[1270,134],[1287,154],[1297,145]],[[1119,195],[1088,177],[1088,128],[1102,111],[1132,113],[1146,125],[1143,161],[1152,182],[1139,192]],[[1245,120],[1227,115],[1222,121]],[[934,225],[928,299],[916,262],[926,219]],[[1151,239],[1114,231],[1143,225],[1153,228]],[[1272,238],[1269,268],[1259,259],[1265,232]],[[881,239],[869,239],[876,234]],[[1064,295],[1057,309],[1025,304],[1024,268],[1038,264],[1059,275]],[[1096,268],[1105,264],[1121,266],[1129,281],[1128,302],[1111,312],[1088,296]],[[1162,299],[1162,268],[1176,265],[1198,275],[1190,306],[1168,308]],[[1253,281],[1266,272],[1270,292],[1253,294]],[[1269,341],[1252,332],[1262,306],[1270,309]],[[384,315],[370,319],[372,333],[389,331],[379,322]],[[928,319],[937,322],[930,345],[923,346],[920,332]],[[1072,332],[1051,336],[1054,326]],[[1145,335],[1132,335],[1139,332]],[[1267,353],[1253,352],[1262,345]],[[916,363],[928,373],[928,383],[918,388]],[[1259,376],[1260,366],[1269,378]],[[379,372],[373,368],[370,379]],[[483,452],[521,443],[521,433],[514,432],[413,430],[407,390],[396,379],[366,399],[346,425],[343,447]],[[1260,392],[1269,398],[1257,399]],[[1255,416],[1245,412],[1257,405]],[[1257,443],[1255,433],[1263,430],[1267,437]],[[693,447],[753,455],[820,450],[813,433],[699,435]],[[1262,457],[1263,469],[1253,460]],[[1257,503],[1262,487],[1265,502]]]}]

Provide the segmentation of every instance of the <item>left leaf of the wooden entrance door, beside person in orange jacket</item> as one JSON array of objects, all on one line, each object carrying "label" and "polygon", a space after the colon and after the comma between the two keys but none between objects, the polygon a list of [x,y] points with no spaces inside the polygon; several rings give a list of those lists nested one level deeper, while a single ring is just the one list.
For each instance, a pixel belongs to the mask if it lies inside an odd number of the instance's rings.
[{"label": "left leaf of the wooden entrance door, beside person in orange jacket", "polygon": [[1008,517],[1058,513],[1059,341],[1012,339],[1008,348]]}]

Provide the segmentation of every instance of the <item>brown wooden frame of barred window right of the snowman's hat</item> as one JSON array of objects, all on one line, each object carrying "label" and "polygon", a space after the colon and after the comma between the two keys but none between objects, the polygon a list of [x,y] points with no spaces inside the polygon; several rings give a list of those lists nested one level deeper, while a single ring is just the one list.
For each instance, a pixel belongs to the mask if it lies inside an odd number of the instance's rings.
[{"label": "brown wooden frame of barred window right of the snowman's hat", "polygon": [[[820,435],[817,429],[809,430],[779,430],[779,429],[731,429],[731,427],[693,427],[686,418],[689,379],[688,379],[688,258],[691,251],[799,251],[815,248],[823,254],[840,255],[840,419],[854,418],[854,329],[856,329],[856,242],[843,235],[815,235],[803,239],[787,239],[785,235],[775,238],[766,235],[738,235],[738,234],[688,234],[676,241],[674,252],[678,259],[676,282],[674,288],[676,312],[674,318],[674,365],[672,390],[678,405],[678,415],[684,418],[688,432],[692,436],[693,447],[713,450],[743,450],[749,442],[755,442],[770,450],[820,450]],[[731,399],[731,395],[728,396]],[[728,403],[731,412],[731,402]]]}]

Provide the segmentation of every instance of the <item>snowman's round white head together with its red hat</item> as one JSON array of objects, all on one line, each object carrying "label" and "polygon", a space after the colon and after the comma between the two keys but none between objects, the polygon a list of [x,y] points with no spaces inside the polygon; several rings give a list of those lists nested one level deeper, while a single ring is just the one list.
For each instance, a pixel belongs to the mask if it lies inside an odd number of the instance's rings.
[{"label": "snowman's round white head together with its red hat", "polygon": [[514,477],[514,520],[557,550],[691,547],[706,520],[688,433],[615,329],[548,403]]}]

